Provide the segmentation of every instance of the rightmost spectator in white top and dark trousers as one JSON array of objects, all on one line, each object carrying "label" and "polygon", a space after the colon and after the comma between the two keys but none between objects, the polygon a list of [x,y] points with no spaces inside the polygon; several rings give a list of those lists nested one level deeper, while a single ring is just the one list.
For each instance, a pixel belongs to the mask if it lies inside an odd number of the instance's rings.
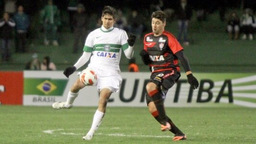
[{"label": "rightmost spectator in white top and dark trousers", "polygon": [[251,9],[247,8],[241,17],[241,33],[242,39],[246,39],[249,36],[250,40],[253,40],[253,24],[255,23]]}]

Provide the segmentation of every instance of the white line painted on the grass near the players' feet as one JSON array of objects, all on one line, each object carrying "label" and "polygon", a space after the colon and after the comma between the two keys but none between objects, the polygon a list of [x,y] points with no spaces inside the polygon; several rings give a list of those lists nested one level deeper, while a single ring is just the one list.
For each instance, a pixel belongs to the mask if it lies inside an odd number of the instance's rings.
[{"label": "white line painted on the grass near the players' feet", "polygon": [[[57,129],[57,130],[46,130],[43,131],[44,133],[49,134],[64,134],[64,135],[85,135],[85,133],[73,133],[73,132],[56,132],[56,131],[64,131],[64,129]],[[154,137],[154,138],[171,138],[171,136],[164,136],[164,135],[139,135],[139,134],[124,134],[124,133],[95,133],[95,135],[105,135],[105,136],[118,136],[118,137]]]}]

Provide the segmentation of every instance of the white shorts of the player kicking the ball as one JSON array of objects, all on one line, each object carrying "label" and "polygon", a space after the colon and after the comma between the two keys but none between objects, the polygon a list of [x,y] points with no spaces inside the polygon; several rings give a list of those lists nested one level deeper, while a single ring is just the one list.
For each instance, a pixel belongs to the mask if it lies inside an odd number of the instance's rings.
[{"label": "white shorts of the player kicking the ball", "polygon": [[122,84],[122,76],[120,71],[116,70],[99,70],[94,67],[88,67],[86,69],[91,69],[96,72],[98,77],[97,89],[100,92],[103,88],[109,88],[113,93],[118,92]]}]

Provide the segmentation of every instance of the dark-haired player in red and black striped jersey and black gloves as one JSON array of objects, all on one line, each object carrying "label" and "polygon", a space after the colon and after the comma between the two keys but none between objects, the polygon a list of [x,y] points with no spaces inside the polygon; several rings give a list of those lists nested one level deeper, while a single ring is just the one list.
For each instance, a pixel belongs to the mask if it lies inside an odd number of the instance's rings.
[{"label": "dark-haired player in red and black striped jersey and black gloves", "polygon": [[151,16],[152,33],[144,37],[144,49],[140,55],[143,62],[150,67],[150,82],[146,85],[146,103],[149,112],[161,124],[162,131],[174,133],[173,141],[185,140],[186,135],[174,125],[166,115],[164,98],[180,78],[179,60],[186,72],[188,83],[193,89],[198,87],[198,81],[193,76],[183,48],[177,39],[164,30],[166,17],[164,12],[156,11]]}]

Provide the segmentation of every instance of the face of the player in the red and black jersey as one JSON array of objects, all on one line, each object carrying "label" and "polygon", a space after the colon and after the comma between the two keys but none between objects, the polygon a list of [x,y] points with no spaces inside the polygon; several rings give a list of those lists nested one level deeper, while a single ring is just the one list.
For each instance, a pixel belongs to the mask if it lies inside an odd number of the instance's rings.
[{"label": "face of the player in the red and black jersey", "polygon": [[165,27],[165,22],[163,23],[161,20],[152,18],[152,31],[154,33],[154,36],[160,36],[162,35]]}]

